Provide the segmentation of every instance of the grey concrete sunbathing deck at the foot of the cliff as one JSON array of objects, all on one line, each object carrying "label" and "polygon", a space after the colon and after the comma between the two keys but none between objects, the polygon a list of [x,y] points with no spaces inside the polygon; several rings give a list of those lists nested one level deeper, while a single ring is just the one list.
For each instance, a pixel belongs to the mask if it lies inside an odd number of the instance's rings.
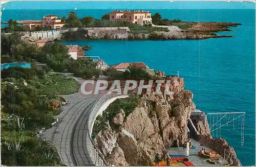
[{"label": "grey concrete sunbathing deck at the foot of the cliff", "polygon": [[[223,166],[224,164],[228,164],[228,161],[225,160],[223,157],[220,158],[220,161],[216,164],[210,164],[207,162],[209,158],[203,158],[198,156],[198,152],[202,149],[205,148],[205,150],[212,150],[210,148],[207,148],[205,146],[200,146],[200,142],[190,139],[192,145],[197,146],[196,149],[189,149],[189,156],[188,160],[193,163],[195,166]],[[169,154],[172,155],[185,155],[185,149],[182,147],[179,148],[169,148],[168,149]]]}]

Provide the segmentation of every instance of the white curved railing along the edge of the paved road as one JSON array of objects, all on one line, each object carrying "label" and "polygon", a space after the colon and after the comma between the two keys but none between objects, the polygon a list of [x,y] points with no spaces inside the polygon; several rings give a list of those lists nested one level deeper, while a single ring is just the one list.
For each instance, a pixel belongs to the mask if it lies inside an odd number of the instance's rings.
[{"label": "white curved railing along the edge of the paved road", "polygon": [[90,158],[96,166],[106,166],[108,165],[104,159],[104,156],[100,153],[98,148],[95,146],[94,141],[92,139],[92,129],[94,125],[95,118],[100,107],[108,100],[113,97],[117,97],[123,94],[124,88],[110,89],[105,91],[102,96],[95,103],[92,111],[90,112],[89,120],[88,120],[88,131],[87,131],[87,149],[90,155]]}]

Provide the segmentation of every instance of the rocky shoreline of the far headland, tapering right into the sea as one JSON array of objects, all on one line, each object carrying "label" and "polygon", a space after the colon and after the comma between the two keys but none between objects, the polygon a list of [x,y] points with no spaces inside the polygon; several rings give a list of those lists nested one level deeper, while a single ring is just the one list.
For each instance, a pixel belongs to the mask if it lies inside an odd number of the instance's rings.
[{"label": "rocky shoreline of the far headland, tapering right into the sea", "polygon": [[237,27],[241,23],[232,22],[183,22],[193,25],[190,28],[181,29],[177,26],[167,27],[169,32],[153,31],[102,31],[92,32],[66,32],[62,40],[179,40],[179,39],[208,39],[233,37],[233,35],[217,35],[216,32],[230,32],[230,27]]}]

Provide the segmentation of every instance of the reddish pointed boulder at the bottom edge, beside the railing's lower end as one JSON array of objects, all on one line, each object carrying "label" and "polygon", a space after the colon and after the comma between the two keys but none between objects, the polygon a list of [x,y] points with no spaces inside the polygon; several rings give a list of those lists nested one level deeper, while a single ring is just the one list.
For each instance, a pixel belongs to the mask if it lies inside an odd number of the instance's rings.
[{"label": "reddish pointed boulder at the bottom edge, beside the railing's lower end", "polygon": [[129,166],[124,157],[123,150],[117,145],[112,154],[105,158],[106,162],[111,166]]}]

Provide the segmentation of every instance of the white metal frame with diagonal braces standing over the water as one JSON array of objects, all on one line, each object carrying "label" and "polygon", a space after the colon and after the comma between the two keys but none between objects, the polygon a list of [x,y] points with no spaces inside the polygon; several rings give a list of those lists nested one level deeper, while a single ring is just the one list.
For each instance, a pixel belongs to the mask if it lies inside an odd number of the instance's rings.
[{"label": "white metal frame with diagonal braces standing over the water", "polygon": [[233,131],[241,129],[241,145],[244,145],[245,112],[217,112],[206,115],[212,138],[221,137],[221,128],[226,129],[230,123]]}]

